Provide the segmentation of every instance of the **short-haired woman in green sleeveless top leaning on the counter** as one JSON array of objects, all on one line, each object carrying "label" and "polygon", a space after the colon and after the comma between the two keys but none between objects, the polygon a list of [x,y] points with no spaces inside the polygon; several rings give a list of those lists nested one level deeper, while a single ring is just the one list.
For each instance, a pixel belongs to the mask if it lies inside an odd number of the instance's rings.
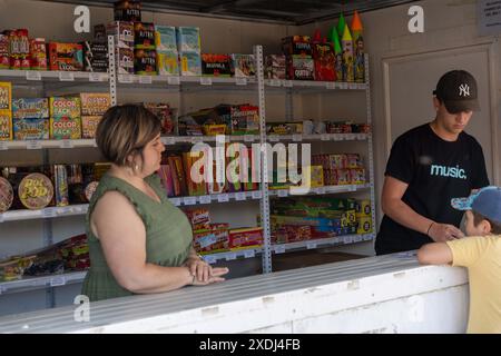
[{"label": "short-haired woman in green sleeveless top leaning on the counter", "polygon": [[90,269],[82,294],[94,301],[224,280],[228,269],[197,256],[187,217],[155,174],[165,150],[158,118],[141,106],[112,107],[96,141],[111,168],[89,204]]}]

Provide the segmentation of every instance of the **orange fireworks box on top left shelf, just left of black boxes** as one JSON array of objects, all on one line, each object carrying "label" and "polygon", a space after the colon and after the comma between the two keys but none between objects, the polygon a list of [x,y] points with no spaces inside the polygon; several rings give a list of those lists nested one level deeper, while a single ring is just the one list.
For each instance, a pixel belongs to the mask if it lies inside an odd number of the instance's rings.
[{"label": "orange fireworks box on top left shelf, just left of black boxes", "polygon": [[81,44],[50,42],[48,48],[50,70],[84,70],[84,50]]}]

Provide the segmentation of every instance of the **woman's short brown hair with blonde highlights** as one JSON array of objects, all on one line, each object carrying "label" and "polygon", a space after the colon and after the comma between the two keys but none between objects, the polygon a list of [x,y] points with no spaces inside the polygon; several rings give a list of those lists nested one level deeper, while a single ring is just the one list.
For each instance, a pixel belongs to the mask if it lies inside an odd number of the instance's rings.
[{"label": "woman's short brown hair with blonde highlights", "polygon": [[96,129],[96,142],[105,158],[128,166],[127,157],[140,155],[146,144],[160,134],[160,120],[141,105],[120,105],[109,108]]}]

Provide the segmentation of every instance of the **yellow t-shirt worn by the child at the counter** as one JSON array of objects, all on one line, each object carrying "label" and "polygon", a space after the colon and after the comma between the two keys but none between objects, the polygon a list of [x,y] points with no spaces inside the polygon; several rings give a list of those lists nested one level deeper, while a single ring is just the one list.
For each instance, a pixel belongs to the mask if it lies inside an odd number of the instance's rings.
[{"label": "yellow t-shirt worn by the child at the counter", "polygon": [[468,268],[468,333],[501,334],[501,235],[448,241],[452,265]]}]

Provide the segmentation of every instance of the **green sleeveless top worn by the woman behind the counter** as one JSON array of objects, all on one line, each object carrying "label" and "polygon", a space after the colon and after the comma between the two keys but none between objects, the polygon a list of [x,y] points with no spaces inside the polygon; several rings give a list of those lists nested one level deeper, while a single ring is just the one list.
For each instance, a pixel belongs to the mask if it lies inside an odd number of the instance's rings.
[{"label": "green sleeveless top worn by the woman behind the counter", "polygon": [[167,198],[157,175],[145,178],[161,202],[150,198],[127,181],[105,175],[92,195],[86,218],[90,269],[86,275],[82,294],[90,301],[132,295],[115,279],[106,263],[100,241],[90,228],[90,216],[97,201],[110,190],[117,190],[129,199],[145,224],[146,261],[167,267],[180,266],[189,255],[193,234],[186,215]]}]

